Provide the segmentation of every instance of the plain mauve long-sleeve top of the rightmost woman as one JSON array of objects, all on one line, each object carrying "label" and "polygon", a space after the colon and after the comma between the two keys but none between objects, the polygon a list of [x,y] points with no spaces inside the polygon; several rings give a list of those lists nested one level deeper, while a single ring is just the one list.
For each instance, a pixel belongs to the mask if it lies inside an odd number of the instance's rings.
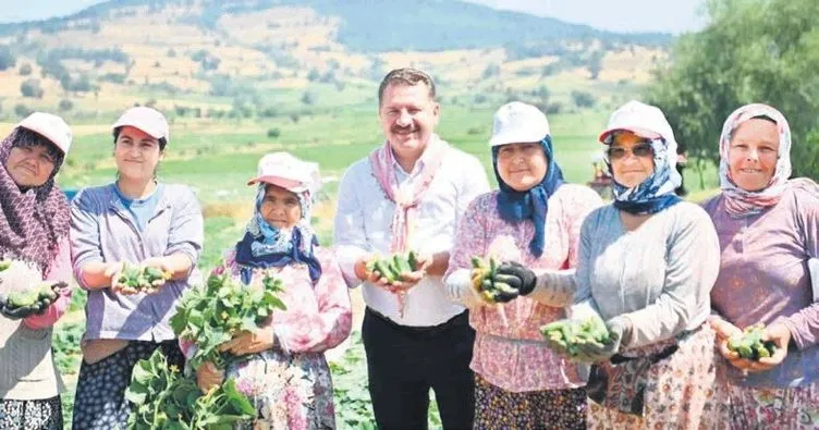
[{"label": "plain mauve long-sleeve top of the rightmost woman", "polygon": [[819,257],[819,197],[791,188],[775,206],[745,218],[732,218],[723,205],[722,196],[704,204],[722,249],[713,310],[741,329],[782,322],[795,345],[772,370],[743,378],[730,367],[729,378],[778,388],[819,381],[819,302],[808,271],[808,259]]}]

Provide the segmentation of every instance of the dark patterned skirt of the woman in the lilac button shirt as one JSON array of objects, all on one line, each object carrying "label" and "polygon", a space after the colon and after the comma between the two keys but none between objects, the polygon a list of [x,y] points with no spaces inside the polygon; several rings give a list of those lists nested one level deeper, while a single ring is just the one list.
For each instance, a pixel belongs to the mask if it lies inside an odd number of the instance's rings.
[{"label": "dark patterned skirt of the woman in the lilac button shirt", "polygon": [[123,349],[93,365],[83,361],[80,367],[72,429],[125,429],[131,403],[125,400],[125,389],[131,384],[131,372],[140,359],[149,358],[162,348],[168,365],[180,369],[185,357],[178,342],[162,343],[132,341]]}]

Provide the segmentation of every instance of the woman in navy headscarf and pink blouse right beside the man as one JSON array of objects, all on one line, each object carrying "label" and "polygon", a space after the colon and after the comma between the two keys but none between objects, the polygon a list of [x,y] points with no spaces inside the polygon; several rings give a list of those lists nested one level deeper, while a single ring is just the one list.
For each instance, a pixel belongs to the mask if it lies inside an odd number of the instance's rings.
[{"label": "woman in navy headscarf and pink blouse right beside the man", "polygon": [[[585,429],[585,380],[539,333],[565,318],[570,297],[515,278],[493,304],[473,284],[472,257],[535,270],[574,270],[583,219],[602,205],[582,185],[565,184],[549,123],[536,107],[513,101],[494,114],[490,139],[500,189],[478,196],[459,223],[445,275],[449,296],[469,308],[476,331],[475,428]],[[534,279],[534,275],[533,275]]]}]

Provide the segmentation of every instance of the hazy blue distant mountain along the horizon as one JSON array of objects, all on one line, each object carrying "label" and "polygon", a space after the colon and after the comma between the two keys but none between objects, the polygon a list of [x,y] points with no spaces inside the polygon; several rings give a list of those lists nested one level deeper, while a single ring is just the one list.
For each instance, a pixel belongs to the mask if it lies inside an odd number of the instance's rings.
[{"label": "hazy blue distant mountain along the horizon", "polygon": [[225,14],[283,5],[313,8],[321,15],[339,19],[335,41],[363,53],[505,47],[515,57],[525,58],[555,53],[560,41],[597,39],[610,45],[662,47],[671,40],[668,34],[602,32],[587,25],[453,0],[111,0],[66,17],[1,24],[0,35],[34,28],[59,32],[72,22],[108,19],[119,9],[146,5],[157,11],[167,7],[196,8],[198,16],[185,20],[211,29]]}]

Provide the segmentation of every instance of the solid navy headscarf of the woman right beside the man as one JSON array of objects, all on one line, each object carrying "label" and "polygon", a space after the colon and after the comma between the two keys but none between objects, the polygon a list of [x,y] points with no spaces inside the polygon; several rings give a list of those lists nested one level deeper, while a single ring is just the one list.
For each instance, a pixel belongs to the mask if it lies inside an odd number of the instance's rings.
[{"label": "solid navy headscarf of the woman right beside the man", "polygon": [[519,222],[531,219],[535,224],[535,237],[529,242],[529,250],[536,257],[543,255],[546,247],[546,213],[549,210],[549,197],[563,185],[563,172],[554,161],[551,136],[547,135],[540,140],[547,160],[547,170],[543,180],[534,187],[517,192],[506,185],[498,173],[499,146],[492,147],[492,169],[498,179],[500,192],[498,193],[498,212],[506,222]]}]

